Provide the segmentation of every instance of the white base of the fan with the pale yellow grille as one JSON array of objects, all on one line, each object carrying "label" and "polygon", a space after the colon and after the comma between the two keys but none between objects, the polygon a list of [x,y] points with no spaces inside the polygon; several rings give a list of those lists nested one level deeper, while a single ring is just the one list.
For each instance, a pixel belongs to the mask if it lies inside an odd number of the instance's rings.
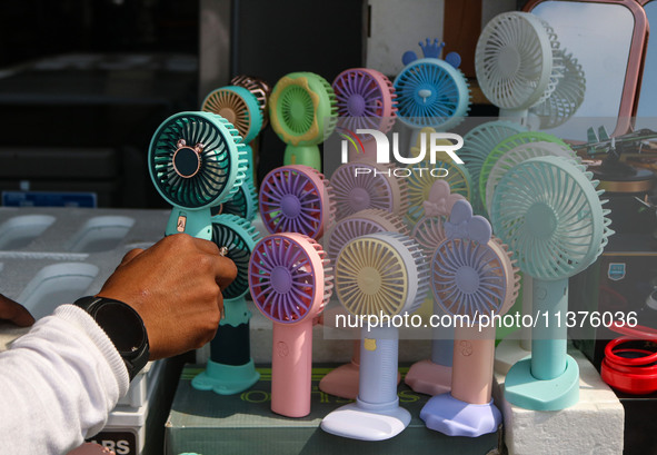
[{"label": "white base of the fan with the pale yellow grille", "polygon": [[350,439],[385,441],[397,436],[409,423],[410,413],[398,405],[369,409],[357,400],[327,415],[321,429]]}]

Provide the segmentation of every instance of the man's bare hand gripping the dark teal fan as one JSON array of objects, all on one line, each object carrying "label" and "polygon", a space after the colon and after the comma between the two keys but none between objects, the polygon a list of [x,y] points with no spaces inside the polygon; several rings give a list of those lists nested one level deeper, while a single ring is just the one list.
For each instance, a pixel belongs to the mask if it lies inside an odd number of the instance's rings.
[{"label": "man's bare hand gripping the dark teal fan", "polygon": [[221,290],[237,276],[235,264],[211,241],[176,234],[152,247],[133,249],[98,296],[132,306],[141,316],[150,359],[197,349],[219,326]]}]

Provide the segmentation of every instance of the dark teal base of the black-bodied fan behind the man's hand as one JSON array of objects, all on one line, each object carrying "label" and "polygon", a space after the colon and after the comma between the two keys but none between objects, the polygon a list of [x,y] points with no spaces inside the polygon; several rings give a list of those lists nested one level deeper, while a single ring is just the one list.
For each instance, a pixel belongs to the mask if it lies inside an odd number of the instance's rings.
[{"label": "dark teal base of the black-bodied fan behind the man's hand", "polygon": [[197,390],[212,390],[218,395],[235,395],[251,387],[260,379],[253,359],[243,365],[225,365],[208,360],[206,370],[198,374],[191,386]]}]

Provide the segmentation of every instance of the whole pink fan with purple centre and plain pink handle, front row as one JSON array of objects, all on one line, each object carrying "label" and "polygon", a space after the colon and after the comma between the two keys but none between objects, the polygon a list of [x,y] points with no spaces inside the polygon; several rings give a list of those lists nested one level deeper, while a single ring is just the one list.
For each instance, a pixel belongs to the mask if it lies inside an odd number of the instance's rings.
[{"label": "whole pink fan with purple centre and plain pink handle, front row", "polygon": [[273,323],[271,411],[310,413],[312,320],[332,291],[332,269],[321,246],[300,234],[271,234],[249,261],[253,303]]}]

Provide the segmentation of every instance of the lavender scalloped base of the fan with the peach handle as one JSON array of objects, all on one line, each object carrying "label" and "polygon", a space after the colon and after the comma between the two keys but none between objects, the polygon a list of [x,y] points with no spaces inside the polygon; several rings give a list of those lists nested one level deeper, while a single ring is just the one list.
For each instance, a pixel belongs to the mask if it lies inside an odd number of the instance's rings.
[{"label": "lavender scalloped base of the fan with the peach handle", "polygon": [[427,428],[448,436],[477,437],[497,432],[501,424],[501,413],[490,403],[476,405],[456,399],[450,394],[431,397],[420,418]]}]

